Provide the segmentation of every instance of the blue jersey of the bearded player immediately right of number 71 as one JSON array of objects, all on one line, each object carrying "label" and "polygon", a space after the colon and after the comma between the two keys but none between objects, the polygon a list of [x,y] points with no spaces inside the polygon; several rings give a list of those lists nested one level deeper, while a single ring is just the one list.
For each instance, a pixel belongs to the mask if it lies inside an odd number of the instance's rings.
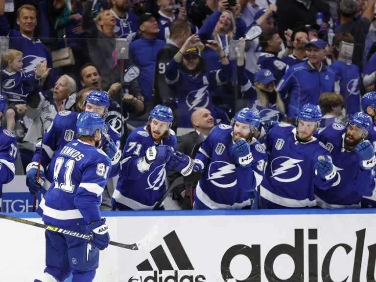
[{"label": "blue jersey of the bearded player immediately right of number 71", "polygon": [[[220,144],[220,145],[219,145]],[[199,209],[241,209],[250,206],[254,190],[261,182],[267,154],[250,142],[253,161],[248,167],[237,165],[233,146],[232,128],[215,127],[196,154],[204,172],[195,190],[195,205]],[[221,147],[224,150],[217,150]]]}]

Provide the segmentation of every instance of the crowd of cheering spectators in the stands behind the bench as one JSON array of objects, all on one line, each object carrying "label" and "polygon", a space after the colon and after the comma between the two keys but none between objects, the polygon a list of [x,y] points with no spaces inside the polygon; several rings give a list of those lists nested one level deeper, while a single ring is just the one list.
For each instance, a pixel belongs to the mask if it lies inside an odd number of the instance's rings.
[{"label": "crowd of cheering spectators in the stands behind the bench", "polygon": [[[247,40],[254,25],[262,34]],[[323,111],[321,127],[345,124],[376,83],[375,0],[0,0],[0,36],[16,174],[55,115],[82,111],[91,90],[108,93],[121,149],[163,104],[178,147],[194,156],[200,134],[241,108],[293,123],[310,103]],[[133,65],[137,78],[125,82]]]}]

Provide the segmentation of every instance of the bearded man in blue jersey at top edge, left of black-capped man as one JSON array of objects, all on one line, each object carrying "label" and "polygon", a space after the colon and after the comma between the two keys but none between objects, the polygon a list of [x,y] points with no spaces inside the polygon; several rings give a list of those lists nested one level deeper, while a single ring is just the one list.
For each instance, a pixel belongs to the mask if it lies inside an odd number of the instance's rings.
[{"label": "bearded man in blue jersey at top edge, left of black-capped man", "polygon": [[127,38],[129,34],[139,30],[139,18],[131,11],[130,0],[109,1],[111,12],[116,18],[114,33],[118,38]]}]

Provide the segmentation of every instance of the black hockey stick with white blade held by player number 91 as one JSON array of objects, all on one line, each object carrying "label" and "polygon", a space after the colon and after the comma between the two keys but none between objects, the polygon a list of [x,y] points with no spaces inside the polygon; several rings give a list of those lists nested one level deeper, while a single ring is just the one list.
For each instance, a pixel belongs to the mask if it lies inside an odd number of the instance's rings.
[{"label": "black hockey stick with white blade held by player number 91", "polygon": [[[73,231],[66,230],[66,229],[63,229],[63,228],[60,228],[60,227],[46,225],[46,224],[38,223],[38,222],[35,222],[35,221],[26,220],[26,219],[23,219],[23,218],[6,216],[6,215],[1,214],[1,213],[0,213],[0,218],[24,223],[24,224],[31,225],[31,226],[40,227],[40,228],[46,229],[48,231],[52,231],[52,232],[56,232],[56,233],[62,233],[62,234],[65,234],[65,235],[70,235],[70,236],[82,238],[82,239],[85,239],[85,240],[88,240],[88,241],[90,241],[92,239],[92,236],[88,235],[88,234],[73,232]],[[137,250],[141,249],[143,246],[145,246],[147,243],[149,243],[152,239],[154,239],[154,237],[157,235],[157,233],[158,233],[157,227],[154,226],[154,228],[151,230],[151,232],[149,234],[147,234],[143,239],[141,239],[140,241],[138,241],[136,243],[122,244],[122,243],[110,241],[109,244],[113,245],[113,246],[120,247],[120,248],[137,251]]]}]

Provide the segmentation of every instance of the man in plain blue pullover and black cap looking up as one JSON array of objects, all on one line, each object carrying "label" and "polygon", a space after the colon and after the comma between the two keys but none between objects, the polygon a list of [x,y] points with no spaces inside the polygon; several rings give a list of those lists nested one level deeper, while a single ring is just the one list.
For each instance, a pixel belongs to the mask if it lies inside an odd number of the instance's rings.
[{"label": "man in plain blue pullover and black cap looking up", "polygon": [[164,46],[164,41],[157,39],[159,32],[158,22],[152,14],[145,13],[140,16],[140,39],[129,46],[129,57],[140,67],[139,84],[142,89],[144,102],[152,102],[153,78],[157,53]]}]

